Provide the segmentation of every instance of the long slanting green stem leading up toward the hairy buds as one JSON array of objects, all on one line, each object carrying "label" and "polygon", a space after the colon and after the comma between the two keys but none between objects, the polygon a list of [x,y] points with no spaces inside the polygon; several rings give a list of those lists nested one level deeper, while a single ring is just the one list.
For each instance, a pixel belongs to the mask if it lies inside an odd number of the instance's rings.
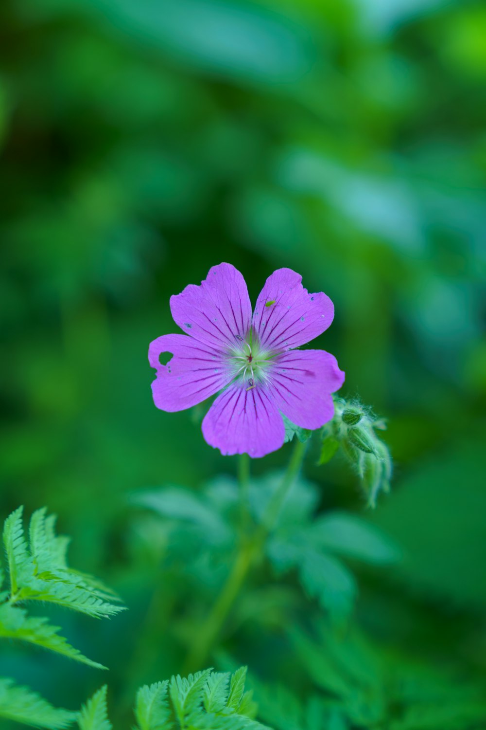
[{"label": "long slanting green stem leading up toward the hairy buds", "polygon": [[[248,537],[248,539],[243,539],[240,543],[235,562],[222,587],[221,593],[219,593],[216,603],[213,604],[211,612],[208,614],[200,631],[198,631],[192,649],[189,651],[189,655],[184,664],[185,674],[195,672],[197,669],[205,666],[211,649],[224,625],[224,621],[226,621],[235,599],[238,598],[238,594],[246,580],[248,572],[261,552],[267,534],[275,527],[283,502],[295,477],[297,477],[304,455],[305,444],[297,441],[291,460],[289,461],[289,466],[287,466],[283,480],[268,504],[262,524],[254,532],[253,536]],[[243,470],[243,467],[240,466],[240,469]]]}]

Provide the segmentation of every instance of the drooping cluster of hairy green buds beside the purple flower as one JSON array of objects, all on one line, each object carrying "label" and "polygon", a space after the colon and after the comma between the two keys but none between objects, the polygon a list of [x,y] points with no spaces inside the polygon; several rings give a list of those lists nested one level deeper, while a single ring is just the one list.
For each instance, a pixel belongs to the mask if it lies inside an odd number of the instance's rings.
[{"label": "drooping cluster of hairy green buds beside the purple flower", "polygon": [[363,484],[369,507],[376,506],[377,494],[388,492],[392,461],[388,446],[377,437],[375,429],[386,428],[359,401],[345,401],[334,396],[334,418],[321,431],[320,464],[325,464],[341,449]]}]

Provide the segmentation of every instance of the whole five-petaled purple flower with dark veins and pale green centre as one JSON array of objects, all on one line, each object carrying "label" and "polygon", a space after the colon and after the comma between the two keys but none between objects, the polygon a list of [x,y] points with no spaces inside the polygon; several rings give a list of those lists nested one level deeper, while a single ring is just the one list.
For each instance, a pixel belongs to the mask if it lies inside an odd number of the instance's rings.
[{"label": "whole five-petaled purple flower with dark veins and pale green centre", "polygon": [[[277,269],[253,317],[245,280],[231,264],[213,266],[200,286],[171,296],[173,319],[187,334],[150,343],[157,408],[184,410],[222,391],[205,415],[203,436],[222,454],[252,457],[283,445],[282,414],[303,429],[330,420],[331,393],[345,375],[324,350],[294,348],[329,327],[334,305],[322,292],[307,293],[301,282],[291,269]],[[162,353],[173,354],[166,365]]]}]

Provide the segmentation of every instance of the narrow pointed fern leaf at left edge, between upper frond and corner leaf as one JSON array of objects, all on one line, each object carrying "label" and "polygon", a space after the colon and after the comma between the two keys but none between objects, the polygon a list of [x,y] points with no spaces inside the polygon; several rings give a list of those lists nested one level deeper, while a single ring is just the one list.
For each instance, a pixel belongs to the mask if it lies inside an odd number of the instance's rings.
[{"label": "narrow pointed fern leaf at left edge, between upper frond and corner leaf", "polygon": [[47,618],[29,617],[27,612],[10,604],[0,606],[0,637],[20,639],[44,649],[50,649],[68,658],[81,661],[83,664],[94,666],[96,669],[106,669],[84,656],[79,650],[72,647],[64,637],[58,634],[59,626],[51,626]]}]

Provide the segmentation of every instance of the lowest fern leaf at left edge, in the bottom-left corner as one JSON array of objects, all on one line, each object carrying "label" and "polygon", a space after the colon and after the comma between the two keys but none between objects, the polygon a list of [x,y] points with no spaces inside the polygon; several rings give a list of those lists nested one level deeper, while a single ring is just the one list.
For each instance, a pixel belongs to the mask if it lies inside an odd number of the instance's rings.
[{"label": "lowest fern leaf at left edge, in the bottom-left corner", "polygon": [[0,677],[0,718],[36,728],[62,730],[74,721],[76,712],[52,707],[36,692]]}]

